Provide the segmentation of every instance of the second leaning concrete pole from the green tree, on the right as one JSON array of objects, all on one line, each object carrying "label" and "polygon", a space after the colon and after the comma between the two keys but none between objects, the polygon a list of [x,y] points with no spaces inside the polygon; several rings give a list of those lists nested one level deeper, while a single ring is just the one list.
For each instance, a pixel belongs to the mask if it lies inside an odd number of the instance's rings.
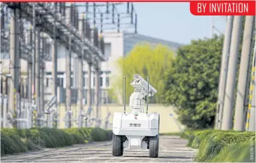
[{"label": "second leaning concrete pole from the green tree, on the right", "polygon": [[234,106],[234,89],[236,85],[236,63],[238,59],[240,37],[242,31],[242,16],[234,16],[233,31],[231,35],[231,47],[229,56],[229,65],[227,73],[227,85],[224,96],[224,110],[222,118],[222,130],[232,128],[233,106]]}]

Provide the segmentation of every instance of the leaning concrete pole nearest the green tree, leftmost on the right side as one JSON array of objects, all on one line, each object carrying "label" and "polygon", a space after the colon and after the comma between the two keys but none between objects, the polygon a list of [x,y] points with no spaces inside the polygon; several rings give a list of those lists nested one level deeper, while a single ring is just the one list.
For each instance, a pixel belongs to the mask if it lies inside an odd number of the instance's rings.
[{"label": "leaning concrete pole nearest the green tree, leftmost on the right side", "polygon": [[215,129],[220,129],[220,124],[222,121],[222,112],[223,112],[223,103],[224,103],[224,94],[227,81],[227,65],[229,63],[229,49],[231,43],[231,33],[233,27],[234,16],[228,16],[227,25],[224,37],[224,44],[222,49],[222,65],[220,70],[220,81],[219,81],[219,93],[218,93],[218,102],[217,102],[217,114],[215,117]]}]

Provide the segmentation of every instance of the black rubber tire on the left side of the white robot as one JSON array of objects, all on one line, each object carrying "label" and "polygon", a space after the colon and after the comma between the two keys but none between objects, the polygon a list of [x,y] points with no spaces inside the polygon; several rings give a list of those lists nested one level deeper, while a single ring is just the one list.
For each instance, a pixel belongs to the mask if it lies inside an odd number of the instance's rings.
[{"label": "black rubber tire on the left side of the white robot", "polygon": [[123,155],[122,138],[121,136],[116,136],[114,133],[112,136],[112,155],[113,156]]}]

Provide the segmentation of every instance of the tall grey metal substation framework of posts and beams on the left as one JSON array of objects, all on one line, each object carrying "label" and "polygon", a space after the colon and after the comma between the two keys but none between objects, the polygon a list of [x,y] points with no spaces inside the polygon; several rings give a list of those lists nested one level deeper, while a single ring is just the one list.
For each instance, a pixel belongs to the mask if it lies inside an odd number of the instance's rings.
[{"label": "tall grey metal substation framework of posts and beams on the left", "polygon": [[[24,122],[27,122],[27,125],[25,125],[27,127],[33,126],[32,124],[34,126],[42,126],[42,121],[47,122],[47,126],[53,126],[54,122],[58,126],[56,123],[60,119],[58,119],[58,93],[56,89],[58,87],[56,72],[58,67],[57,45],[61,44],[69,51],[69,55],[66,56],[66,65],[69,66],[69,69],[71,66],[71,53],[75,53],[79,58],[79,74],[83,71],[83,60],[85,60],[90,66],[90,70],[91,67],[94,67],[94,70],[99,76],[100,63],[107,61],[104,55],[105,43],[101,35],[102,32],[107,30],[121,32],[130,29],[133,29],[133,32],[137,32],[137,14],[135,13],[133,4],[126,3],[126,12],[123,12],[119,8],[123,4],[125,3],[1,3],[1,53],[6,53],[6,56],[10,56],[10,60],[15,63],[14,69],[10,70],[11,78],[13,78],[12,81],[15,80],[15,82],[11,83],[8,93],[8,103],[16,103],[13,105],[14,110],[9,110],[9,112],[14,111],[14,113],[18,114],[17,117],[11,117],[11,119],[9,116],[9,122],[18,122],[18,127],[22,127],[22,123]],[[14,33],[11,33],[11,31]],[[11,50],[11,46],[15,49]],[[50,46],[53,47],[51,52]],[[27,60],[28,63],[28,100],[22,99],[20,91],[15,91],[22,84],[20,83],[20,59]],[[42,84],[45,61],[53,62],[54,83],[53,96],[46,104],[43,99]],[[70,73],[69,70],[67,72],[68,78],[70,78]],[[99,77],[96,77],[96,79],[99,80]],[[67,79],[67,81],[69,80],[71,79]],[[79,75],[79,81],[81,80],[82,78]],[[100,82],[97,81],[97,85],[99,84]],[[31,85],[34,85],[34,87]],[[66,90],[67,95],[69,95],[71,89],[69,87]],[[90,91],[88,90],[88,92]],[[95,118],[90,119],[95,119],[95,121],[100,123],[99,86],[96,91],[97,115]],[[31,98],[32,95],[33,98]],[[80,127],[82,126],[82,118],[87,116],[84,115],[82,96],[82,86],[80,84],[80,100],[77,100],[80,107],[78,117]],[[67,127],[71,127],[72,125],[69,124],[73,121],[70,117],[71,108],[69,108],[71,100],[69,96],[67,97],[66,112],[68,117],[65,118],[65,121],[67,122]],[[29,112],[33,112],[32,115],[27,115],[28,117],[23,114],[20,107],[20,101],[24,100],[28,103]],[[12,108],[12,106],[8,107],[9,109]],[[88,112],[90,110],[93,110],[91,106],[88,108]],[[9,112],[7,115],[10,115]],[[47,115],[47,120],[45,120],[44,114]],[[31,116],[34,118],[34,122],[29,122]]]}]

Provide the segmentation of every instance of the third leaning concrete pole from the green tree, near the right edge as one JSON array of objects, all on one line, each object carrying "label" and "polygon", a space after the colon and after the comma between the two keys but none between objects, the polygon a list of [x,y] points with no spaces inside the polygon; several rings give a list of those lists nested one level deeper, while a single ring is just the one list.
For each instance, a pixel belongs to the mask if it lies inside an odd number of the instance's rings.
[{"label": "third leaning concrete pole from the green tree, near the right edge", "polygon": [[255,16],[245,17],[245,27],[243,32],[243,46],[241,54],[241,63],[239,69],[238,77],[238,89],[236,93],[236,109],[234,117],[234,130],[243,131],[244,130],[244,110],[245,103],[247,101],[246,90],[248,87],[248,75],[249,75],[249,65],[250,65],[250,51],[252,47],[252,34],[254,29]]}]

